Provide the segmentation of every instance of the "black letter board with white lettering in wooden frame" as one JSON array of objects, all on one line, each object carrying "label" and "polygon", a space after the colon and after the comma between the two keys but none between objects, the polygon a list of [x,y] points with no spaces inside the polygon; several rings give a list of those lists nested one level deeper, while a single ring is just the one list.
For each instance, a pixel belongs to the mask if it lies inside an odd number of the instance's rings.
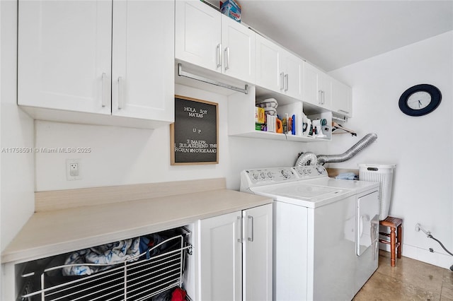
[{"label": "black letter board with white lettering in wooden frame", "polygon": [[[206,113],[202,114],[205,110]],[[170,124],[170,149],[171,165],[218,164],[218,104],[175,95],[175,122]]]}]

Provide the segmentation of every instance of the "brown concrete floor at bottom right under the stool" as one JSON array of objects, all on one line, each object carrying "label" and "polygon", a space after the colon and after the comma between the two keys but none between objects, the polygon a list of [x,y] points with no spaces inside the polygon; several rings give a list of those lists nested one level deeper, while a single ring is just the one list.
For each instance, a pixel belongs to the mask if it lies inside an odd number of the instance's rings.
[{"label": "brown concrete floor at bottom right under the stool", "polygon": [[453,301],[453,271],[404,256],[392,268],[390,253],[381,250],[377,271],[352,300]]}]

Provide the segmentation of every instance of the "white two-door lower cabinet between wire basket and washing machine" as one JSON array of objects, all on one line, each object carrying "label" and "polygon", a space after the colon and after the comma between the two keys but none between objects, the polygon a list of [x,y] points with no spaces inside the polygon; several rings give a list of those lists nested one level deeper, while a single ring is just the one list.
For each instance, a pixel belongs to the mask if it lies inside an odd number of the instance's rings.
[{"label": "white two-door lower cabinet between wire basket and washing machine", "polygon": [[199,299],[272,300],[272,204],[200,220]]}]

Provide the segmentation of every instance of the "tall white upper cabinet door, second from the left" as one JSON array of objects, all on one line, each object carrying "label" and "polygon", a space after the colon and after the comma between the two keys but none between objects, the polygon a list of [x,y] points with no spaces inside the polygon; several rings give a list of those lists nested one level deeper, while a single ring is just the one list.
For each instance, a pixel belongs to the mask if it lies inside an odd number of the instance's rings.
[{"label": "tall white upper cabinet door, second from the left", "polygon": [[173,122],[174,1],[113,1],[112,114]]}]

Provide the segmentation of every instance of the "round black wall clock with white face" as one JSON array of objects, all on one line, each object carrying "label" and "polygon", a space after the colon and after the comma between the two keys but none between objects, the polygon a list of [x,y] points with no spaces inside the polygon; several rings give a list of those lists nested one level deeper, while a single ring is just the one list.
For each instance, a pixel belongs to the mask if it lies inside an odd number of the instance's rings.
[{"label": "round black wall clock with white face", "polygon": [[399,109],[409,116],[423,116],[436,110],[442,100],[442,93],[434,85],[423,83],[404,91],[399,98]]}]

